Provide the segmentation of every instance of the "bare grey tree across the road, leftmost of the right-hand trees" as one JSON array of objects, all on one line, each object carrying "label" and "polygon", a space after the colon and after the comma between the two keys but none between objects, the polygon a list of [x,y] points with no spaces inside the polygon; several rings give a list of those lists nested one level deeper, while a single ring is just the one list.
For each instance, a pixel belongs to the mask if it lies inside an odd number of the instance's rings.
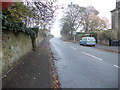
[{"label": "bare grey tree across the road, leftmost of the right-hand trees", "polygon": [[77,4],[68,5],[68,9],[65,12],[65,16],[61,19],[61,26],[64,24],[69,28],[69,31],[76,31],[81,26],[82,8]]}]

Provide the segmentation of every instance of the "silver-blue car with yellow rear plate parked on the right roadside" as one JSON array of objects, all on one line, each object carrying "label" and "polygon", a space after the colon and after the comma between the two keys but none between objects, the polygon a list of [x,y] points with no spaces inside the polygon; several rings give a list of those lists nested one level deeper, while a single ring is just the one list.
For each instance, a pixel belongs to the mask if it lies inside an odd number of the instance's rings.
[{"label": "silver-blue car with yellow rear plate parked on the right roadside", "polygon": [[82,40],[80,40],[80,45],[95,46],[96,40],[94,37],[83,37]]}]

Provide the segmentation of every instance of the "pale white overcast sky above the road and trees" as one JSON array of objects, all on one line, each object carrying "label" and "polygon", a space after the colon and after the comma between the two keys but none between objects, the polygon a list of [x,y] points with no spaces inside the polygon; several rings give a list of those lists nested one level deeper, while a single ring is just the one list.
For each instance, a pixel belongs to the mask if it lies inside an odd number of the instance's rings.
[{"label": "pale white overcast sky above the road and trees", "polygon": [[[70,3],[78,4],[79,6],[93,6],[96,10],[99,11],[99,16],[106,17],[111,23],[111,10],[116,7],[116,0],[58,0],[57,4],[67,6]],[[62,10],[61,10],[62,11]],[[62,12],[58,12],[57,20],[52,28],[52,34],[55,36],[59,35],[59,19],[62,17]]]}]

